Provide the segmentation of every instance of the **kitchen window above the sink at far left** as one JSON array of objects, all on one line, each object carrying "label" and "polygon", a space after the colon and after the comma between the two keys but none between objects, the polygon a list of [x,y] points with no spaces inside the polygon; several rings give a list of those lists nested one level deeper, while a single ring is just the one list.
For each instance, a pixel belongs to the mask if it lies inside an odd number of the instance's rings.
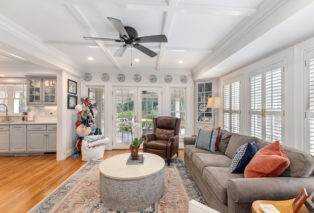
[{"label": "kitchen window above the sink at far left", "polygon": [[[30,111],[26,106],[26,84],[0,84],[0,104],[7,106],[9,114]],[[0,112],[5,112],[3,105]]]}]

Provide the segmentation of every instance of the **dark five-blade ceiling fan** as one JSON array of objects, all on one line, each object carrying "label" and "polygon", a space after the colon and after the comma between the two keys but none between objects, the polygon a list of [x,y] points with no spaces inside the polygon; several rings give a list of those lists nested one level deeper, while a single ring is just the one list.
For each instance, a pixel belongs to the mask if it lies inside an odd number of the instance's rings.
[{"label": "dark five-blade ceiling fan", "polygon": [[110,17],[107,17],[107,19],[118,30],[120,34],[120,39],[106,39],[106,38],[94,38],[94,37],[83,37],[83,38],[86,40],[114,41],[118,43],[124,42],[125,44],[122,45],[118,49],[118,51],[114,54],[114,56],[122,56],[124,51],[126,51],[128,47],[134,47],[150,57],[155,57],[157,55],[156,52],[150,50],[147,47],[140,45],[139,43],[168,42],[167,37],[165,35],[137,37],[137,32],[134,28],[130,26],[124,26],[122,22],[118,19],[114,19]]}]

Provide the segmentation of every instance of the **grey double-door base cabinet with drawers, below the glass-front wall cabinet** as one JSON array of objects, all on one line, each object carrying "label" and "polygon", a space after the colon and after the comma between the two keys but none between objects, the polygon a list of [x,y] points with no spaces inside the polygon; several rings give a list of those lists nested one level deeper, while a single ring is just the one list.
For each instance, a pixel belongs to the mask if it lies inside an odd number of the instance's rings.
[{"label": "grey double-door base cabinet with drawers, below the glass-front wall cabinet", "polygon": [[56,125],[27,125],[27,152],[56,150]]}]

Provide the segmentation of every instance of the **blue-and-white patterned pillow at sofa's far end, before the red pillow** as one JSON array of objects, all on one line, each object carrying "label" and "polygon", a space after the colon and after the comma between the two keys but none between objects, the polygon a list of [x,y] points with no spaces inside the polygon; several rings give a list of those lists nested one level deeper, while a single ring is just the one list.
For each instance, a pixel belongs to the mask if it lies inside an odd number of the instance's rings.
[{"label": "blue-and-white patterned pillow at sofa's far end, before the red pillow", "polygon": [[196,148],[209,150],[215,152],[216,142],[218,138],[219,130],[211,129],[199,129],[197,132],[197,138],[194,146]]}]

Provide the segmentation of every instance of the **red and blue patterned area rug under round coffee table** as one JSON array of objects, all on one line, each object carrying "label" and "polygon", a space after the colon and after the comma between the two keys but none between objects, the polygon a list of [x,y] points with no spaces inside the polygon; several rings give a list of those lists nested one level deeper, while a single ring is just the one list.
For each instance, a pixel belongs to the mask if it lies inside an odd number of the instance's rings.
[{"label": "red and blue patterned area rug under round coffee table", "polygon": [[[29,213],[120,213],[105,207],[101,201],[101,163],[102,161],[87,162]],[[166,164],[164,173],[164,192],[159,201],[148,208],[129,213],[186,213],[191,199],[207,205],[182,159],[171,159],[170,166]]]}]

